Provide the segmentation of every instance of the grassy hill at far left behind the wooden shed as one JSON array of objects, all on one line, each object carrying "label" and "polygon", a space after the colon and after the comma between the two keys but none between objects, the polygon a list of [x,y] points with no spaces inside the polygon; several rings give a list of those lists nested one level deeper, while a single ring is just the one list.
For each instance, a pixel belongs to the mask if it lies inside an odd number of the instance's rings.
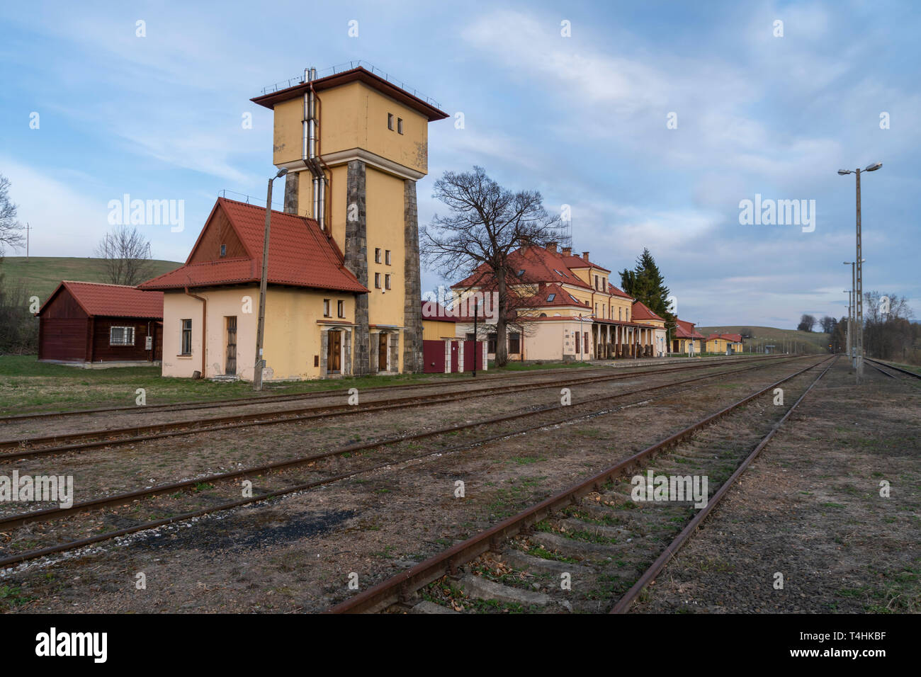
[{"label": "grassy hill at far left behind the wooden shed", "polygon": [[[151,277],[156,277],[179,268],[175,261],[152,261]],[[26,283],[29,296],[37,296],[44,302],[61,280],[80,282],[107,282],[102,259],[77,259],[54,256],[7,256],[0,259],[0,274],[6,276],[6,284]]]}]

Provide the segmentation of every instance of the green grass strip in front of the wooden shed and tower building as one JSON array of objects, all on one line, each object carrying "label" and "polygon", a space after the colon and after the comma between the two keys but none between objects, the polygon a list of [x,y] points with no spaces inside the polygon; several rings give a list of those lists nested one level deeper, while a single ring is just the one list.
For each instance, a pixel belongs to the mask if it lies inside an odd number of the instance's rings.
[{"label": "green grass strip in front of the wooden shed and tower building", "polygon": [[[556,365],[559,366],[559,365]],[[499,369],[499,372],[503,369]],[[492,370],[490,370],[492,373]],[[359,391],[379,386],[438,383],[472,379],[455,374],[398,374],[266,384],[266,393]],[[159,367],[85,369],[39,362],[34,355],[0,356],[0,416],[109,406],[134,406],[134,392],[146,391],[146,403],[208,402],[252,397],[250,383],[206,379],[171,379]]]}]

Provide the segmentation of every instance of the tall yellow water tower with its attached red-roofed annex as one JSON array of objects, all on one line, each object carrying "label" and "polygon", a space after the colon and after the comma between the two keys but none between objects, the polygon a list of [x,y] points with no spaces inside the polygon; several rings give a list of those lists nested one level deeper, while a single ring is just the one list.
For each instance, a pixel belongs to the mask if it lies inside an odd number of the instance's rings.
[{"label": "tall yellow water tower with its attached red-roofed annex", "polygon": [[[448,114],[363,67],[252,99],[274,111],[263,379],[423,367],[416,181]],[[265,210],[219,198],[164,293],[163,375],[252,379]]]}]

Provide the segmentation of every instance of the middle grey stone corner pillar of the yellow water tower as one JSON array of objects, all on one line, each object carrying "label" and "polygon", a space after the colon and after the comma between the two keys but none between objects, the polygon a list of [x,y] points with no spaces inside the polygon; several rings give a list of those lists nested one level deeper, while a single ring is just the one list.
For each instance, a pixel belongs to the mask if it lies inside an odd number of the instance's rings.
[{"label": "middle grey stone corner pillar of the yellow water tower", "polygon": [[[345,267],[352,271],[358,282],[367,286],[367,205],[365,192],[365,163],[352,160],[348,163],[345,204]],[[356,209],[352,205],[356,205]],[[418,304],[416,304],[418,305]],[[421,310],[419,311],[421,314]],[[367,327],[367,294],[355,297],[355,354],[353,373],[365,376],[370,373],[370,340]],[[420,321],[421,324],[421,321]]]}]

